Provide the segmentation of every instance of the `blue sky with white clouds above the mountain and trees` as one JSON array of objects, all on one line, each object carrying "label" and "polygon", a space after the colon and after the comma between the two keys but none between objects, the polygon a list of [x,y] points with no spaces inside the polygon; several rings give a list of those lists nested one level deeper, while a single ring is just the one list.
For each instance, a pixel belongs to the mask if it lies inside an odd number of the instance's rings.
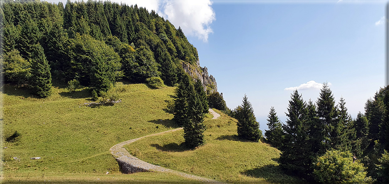
[{"label": "blue sky with white clouds above the mountain and trees", "polygon": [[[154,9],[181,26],[228,107],[240,105],[247,94],[261,129],[267,128],[271,106],[286,121],[293,91],[285,88],[327,81],[336,102],[343,96],[355,118],[384,87],[385,1],[122,2]],[[316,101],[319,91],[299,90],[307,101]]]}]

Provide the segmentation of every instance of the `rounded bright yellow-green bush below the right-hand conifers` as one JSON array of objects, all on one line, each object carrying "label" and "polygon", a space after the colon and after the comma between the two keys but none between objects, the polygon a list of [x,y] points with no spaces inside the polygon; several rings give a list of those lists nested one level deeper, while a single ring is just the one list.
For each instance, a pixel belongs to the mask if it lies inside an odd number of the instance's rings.
[{"label": "rounded bright yellow-green bush below the right-hand conifers", "polygon": [[319,183],[364,183],[366,169],[358,160],[352,162],[351,152],[329,150],[313,163],[314,178]]}]

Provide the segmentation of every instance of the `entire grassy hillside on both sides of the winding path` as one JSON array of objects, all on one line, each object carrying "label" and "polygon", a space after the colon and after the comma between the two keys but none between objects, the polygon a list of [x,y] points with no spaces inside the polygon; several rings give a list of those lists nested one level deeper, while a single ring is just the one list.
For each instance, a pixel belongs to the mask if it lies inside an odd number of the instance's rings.
[{"label": "entire grassy hillside on both sides of the winding path", "polygon": [[[174,88],[149,89],[144,84],[119,82],[115,90],[120,103],[88,107],[83,105],[90,102],[88,88],[69,92],[64,86],[54,86],[47,99],[33,98],[27,89],[13,85],[2,87],[2,147],[7,147],[2,150],[2,182],[197,183],[167,173],[124,175],[109,152],[119,142],[177,128],[173,115],[164,110]],[[195,151],[185,149],[183,131],[148,137],[127,148],[156,165],[222,181],[299,182],[280,171],[277,149],[239,141],[236,120],[231,117],[211,118],[208,114],[205,121],[207,144]]]}]

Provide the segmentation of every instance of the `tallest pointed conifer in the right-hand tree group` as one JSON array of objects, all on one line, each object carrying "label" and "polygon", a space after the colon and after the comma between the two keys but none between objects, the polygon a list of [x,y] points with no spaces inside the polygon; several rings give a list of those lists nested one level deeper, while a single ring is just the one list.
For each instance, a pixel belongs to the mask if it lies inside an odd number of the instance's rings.
[{"label": "tallest pointed conifer in the right-hand tree group", "polygon": [[321,131],[321,140],[323,142],[320,152],[324,154],[330,148],[336,148],[338,145],[333,142],[339,126],[336,126],[337,112],[335,108],[335,98],[329,89],[328,83],[323,84],[317,99],[317,116],[319,117],[319,131]]}]

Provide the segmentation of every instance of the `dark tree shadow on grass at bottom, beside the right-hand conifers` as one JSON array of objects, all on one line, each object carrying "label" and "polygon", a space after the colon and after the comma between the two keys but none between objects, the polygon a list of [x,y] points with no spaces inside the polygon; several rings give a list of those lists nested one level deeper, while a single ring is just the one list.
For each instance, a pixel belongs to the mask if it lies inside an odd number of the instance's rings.
[{"label": "dark tree shadow on grass at bottom, beside the right-hand conifers", "polygon": [[280,183],[280,184],[307,183],[297,177],[287,175],[280,168],[280,166],[276,166],[276,165],[265,165],[251,170],[246,170],[244,172],[241,172],[241,174],[254,177],[254,178],[263,178],[270,183]]}]

